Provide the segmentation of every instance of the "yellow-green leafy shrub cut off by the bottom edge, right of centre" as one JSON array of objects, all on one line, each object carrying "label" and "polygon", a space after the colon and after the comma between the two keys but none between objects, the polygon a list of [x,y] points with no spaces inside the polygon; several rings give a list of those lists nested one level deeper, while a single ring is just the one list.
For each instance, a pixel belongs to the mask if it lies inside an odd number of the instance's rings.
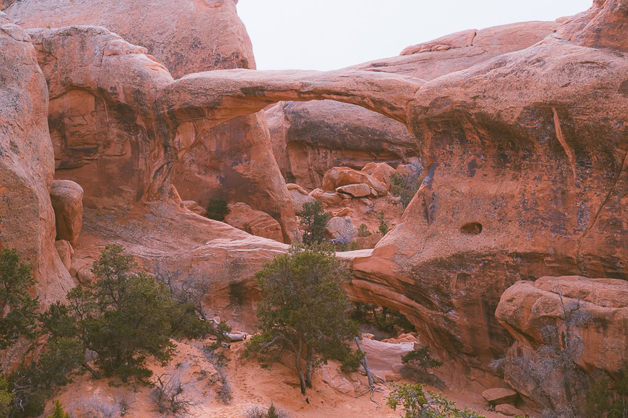
[{"label": "yellow-green leafy shrub cut off by the bottom edge, right of centre", "polygon": [[388,405],[393,410],[398,406],[405,410],[404,418],[486,418],[477,412],[465,408],[456,408],[456,402],[446,396],[431,391],[424,391],[423,385],[394,385],[388,396]]}]

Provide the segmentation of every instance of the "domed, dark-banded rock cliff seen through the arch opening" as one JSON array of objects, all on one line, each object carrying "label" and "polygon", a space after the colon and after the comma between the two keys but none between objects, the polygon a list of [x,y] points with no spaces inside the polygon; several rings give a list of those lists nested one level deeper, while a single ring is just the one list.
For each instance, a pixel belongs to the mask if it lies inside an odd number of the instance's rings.
[{"label": "domed, dark-banded rock cliff seen through the arch opening", "polygon": [[414,138],[397,121],[331,100],[280,102],[266,110],[273,152],[285,178],[308,189],[333,167],[361,169],[417,155]]}]

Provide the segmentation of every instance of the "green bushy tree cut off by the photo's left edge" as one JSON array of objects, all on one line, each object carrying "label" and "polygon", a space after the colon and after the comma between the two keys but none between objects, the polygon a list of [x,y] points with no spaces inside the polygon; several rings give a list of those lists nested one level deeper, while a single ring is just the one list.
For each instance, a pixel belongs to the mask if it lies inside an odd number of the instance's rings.
[{"label": "green bushy tree cut off by the photo's left edge", "polygon": [[36,284],[32,270],[15,248],[0,251],[0,350],[35,334],[38,298],[29,294]]}]

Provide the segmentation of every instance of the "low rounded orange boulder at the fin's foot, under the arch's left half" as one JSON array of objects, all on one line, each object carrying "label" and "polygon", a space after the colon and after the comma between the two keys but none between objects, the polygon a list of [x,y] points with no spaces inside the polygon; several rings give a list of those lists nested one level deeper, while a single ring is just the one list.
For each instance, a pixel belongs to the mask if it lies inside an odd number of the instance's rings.
[{"label": "low rounded orange boulder at the fin's foot, under the arch's left half", "polygon": [[227,208],[229,212],[225,215],[226,224],[251,235],[283,242],[281,225],[266,212],[253,210],[246,203],[231,203]]}]

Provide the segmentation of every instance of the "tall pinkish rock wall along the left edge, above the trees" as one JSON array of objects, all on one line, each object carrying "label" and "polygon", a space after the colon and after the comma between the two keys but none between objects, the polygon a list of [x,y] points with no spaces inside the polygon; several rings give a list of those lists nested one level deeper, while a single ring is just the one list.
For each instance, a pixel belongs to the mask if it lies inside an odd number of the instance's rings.
[{"label": "tall pinkish rock wall along the left edge, above the trees", "polygon": [[73,286],[54,247],[48,93],[28,33],[2,12],[0,79],[0,248],[15,247],[33,265],[34,291],[47,306]]}]

